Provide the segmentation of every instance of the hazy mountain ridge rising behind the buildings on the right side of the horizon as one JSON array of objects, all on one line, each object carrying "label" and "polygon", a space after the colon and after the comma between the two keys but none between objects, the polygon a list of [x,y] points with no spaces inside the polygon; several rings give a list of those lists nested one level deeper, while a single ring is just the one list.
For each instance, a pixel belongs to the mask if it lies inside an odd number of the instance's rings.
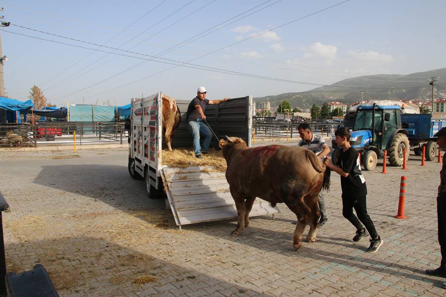
[{"label": "hazy mountain ridge rising behind the buildings on the right side of the horizon", "polygon": [[[288,100],[292,107],[309,109],[313,104],[321,106],[324,102],[339,101],[351,104],[364,100],[417,100],[430,101],[432,86],[427,79],[435,76],[434,99],[446,98],[446,68],[416,72],[407,75],[377,74],[358,76],[338,81],[330,86],[319,87],[306,92],[289,92],[279,95],[256,97],[253,102],[260,108],[260,102],[269,100],[273,111],[275,103]],[[361,91],[364,91],[362,94]]]}]

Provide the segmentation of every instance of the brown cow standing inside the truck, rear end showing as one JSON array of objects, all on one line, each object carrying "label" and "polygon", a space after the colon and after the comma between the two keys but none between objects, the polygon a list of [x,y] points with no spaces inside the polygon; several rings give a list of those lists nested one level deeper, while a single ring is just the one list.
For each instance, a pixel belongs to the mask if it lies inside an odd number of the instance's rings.
[{"label": "brown cow standing inside the truck, rear end showing", "polygon": [[180,122],[181,113],[175,99],[163,94],[163,134],[169,151],[172,151],[171,138]]}]

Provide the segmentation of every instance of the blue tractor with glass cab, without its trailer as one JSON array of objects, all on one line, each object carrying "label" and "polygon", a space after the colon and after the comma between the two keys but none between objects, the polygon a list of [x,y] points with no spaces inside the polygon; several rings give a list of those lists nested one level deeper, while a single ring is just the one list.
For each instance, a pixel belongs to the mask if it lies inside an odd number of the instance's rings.
[{"label": "blue tractor with glass cab, without its trailer", "polygon": [[[356,111],[351,127],[350,145],[361,153],[365,170],[373,170],[378,158],[383,158],[384,150],[391,166],[401,166],[406,150],[409,156],[407,131],[402,128],[401,107],[399,105],[381,106],[378,104],[361,105]],[[339,151],[333,152],[333,161]]]}]

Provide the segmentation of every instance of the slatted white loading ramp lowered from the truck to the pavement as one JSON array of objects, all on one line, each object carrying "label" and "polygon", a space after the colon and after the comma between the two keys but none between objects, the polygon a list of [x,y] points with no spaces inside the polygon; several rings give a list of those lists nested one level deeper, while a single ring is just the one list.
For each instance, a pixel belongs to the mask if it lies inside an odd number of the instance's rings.
[{"label": "slatted white loading ramp lowered from the truck to the pavement", "polygon": [[[187,224],[237,218],[224,172],[212,166],[164,166],[161,171],[170,209],[180,229]],[[250,217],[278,212],[277,206],[257,198]]]}]

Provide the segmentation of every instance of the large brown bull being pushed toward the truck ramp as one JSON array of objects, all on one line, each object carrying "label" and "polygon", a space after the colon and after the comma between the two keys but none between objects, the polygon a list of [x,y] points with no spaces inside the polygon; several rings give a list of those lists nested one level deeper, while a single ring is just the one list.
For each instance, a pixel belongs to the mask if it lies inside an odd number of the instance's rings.
[{"label": "large brown bull being pushed toward the truck ramp", "polygon": [[316,154],[307,148],[271,145],[248,148],[236,137],[220,140],[226,159],[226,180],[238,214],[237,228],[232,235],[240,235],[249,225],[249,212],[256,197],[271,202],[285,203],[297,216],[293,246],[302,246],[302,233],[307,223],[308,242],[316,241],[319,218],[318,194],[330,186],[330,170]]}]

